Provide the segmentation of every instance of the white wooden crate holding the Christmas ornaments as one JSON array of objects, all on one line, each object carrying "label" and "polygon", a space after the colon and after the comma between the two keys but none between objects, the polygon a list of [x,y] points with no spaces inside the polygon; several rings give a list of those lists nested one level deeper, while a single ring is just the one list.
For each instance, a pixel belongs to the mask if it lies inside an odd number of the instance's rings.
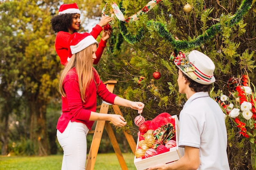
[{"label": "white wooden crate holding the Christmas ornaments", "polygon": [[[175,119],[175,130],[176,130],[176,147],[170,148],[169,152],[164,152],[159,155],[155,155],[148,158],[136,158],[134,157],[134,164],[137,170],[146,170],[150,166],[157,165],[159,163],[171,163],[173,161],[177,161],[184,155],[184,148],[178,147],[179,144],[179,119],[177,115],[172,116]],[[137,140],[137,148],[138,148],[139,138]]]}]

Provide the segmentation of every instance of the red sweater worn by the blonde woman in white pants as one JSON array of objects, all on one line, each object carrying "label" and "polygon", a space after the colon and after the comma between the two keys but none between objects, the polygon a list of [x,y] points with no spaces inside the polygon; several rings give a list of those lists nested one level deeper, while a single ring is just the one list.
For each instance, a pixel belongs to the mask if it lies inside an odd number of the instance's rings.
[{"label": "red sweater worn by the blonde woman in white pants", "polygon": [[[63,87],[66,97],[62,97],[62,114],[58,119],[57,129],[62,133],[67,127],[68,122],[71,120],[85,124],[89,129],[92,129],[94,121],[89,121],[91,111],[96,111],[97,95],[104,101],[114,104],[117,95],[110,93],[106,85],[101,81],[99,75],[94,70],[94,79],[98,86],[92,82],[90,83],[86,101],[83,102],[80,95],[78,75],[76,69],[72,68],[66,75]],[[100,114],[100,113],[99,113]]]}]

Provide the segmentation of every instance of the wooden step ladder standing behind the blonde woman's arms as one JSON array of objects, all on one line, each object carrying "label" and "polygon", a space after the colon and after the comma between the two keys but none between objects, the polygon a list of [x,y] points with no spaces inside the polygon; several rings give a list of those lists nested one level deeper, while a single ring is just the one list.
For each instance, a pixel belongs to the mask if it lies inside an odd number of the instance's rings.
[{"label": "wooden step ladder standing behind the blonde woman's arms", "polygon": [[[109,80],[107,82],[104,82],[104,84],[106,84],[106,87],[108,88],[108,91],[110,91],[111,93],[113,93],[115,84],[117,83],[117,81],[115,80]],[[110,104],[103,102],[101,104],[101,106],[99,106],[100,110],[99,113],[100,114],[108,114],[108,109],[109,109]],[[112,108],[115,112],[115,114],[117,115],[122,115],[121,110],[119,109],[119,107],[117,105],[112,105]],[[97,154],[99,151],[99,145],[101,142],[101,137],[102,137],[102,133],[103,133],[103,129],[104,127],[106,128],[107,132],[108,132],[108,136],[110,138],[110,141],[112,143],[112,146],[115,150],[115,153],[117,155],[117,159],[119,161],[119,164],[121,166],[122,170],[128,170],[127,166],[126,166],[126,162],[124,160],[124,157],[122,155],[121,149],[119,148],[119,145],[117,143],[117,139],[115,137],[114,131],[112,130],[112,127],[110,125],[109,121],[97,121],[95,130],[90,130],[88,133],[93,133],[93,138],[92,138],[92,144],[90,147],[90,151],[89,151],[89,155],[88,155],[88,159],[86,161],[86,166],[85,166],[85,170],[93,170],[94,169],[94,165],[96,162],[96,158],[97,158]],[[128,144],[133,152],[133,154],[135,154],[135,150],[136,150],[136,143],[132,137],[132,135],[130,135],[130,133],[126,130],[123,130],[124,135],[128,141]]]}]

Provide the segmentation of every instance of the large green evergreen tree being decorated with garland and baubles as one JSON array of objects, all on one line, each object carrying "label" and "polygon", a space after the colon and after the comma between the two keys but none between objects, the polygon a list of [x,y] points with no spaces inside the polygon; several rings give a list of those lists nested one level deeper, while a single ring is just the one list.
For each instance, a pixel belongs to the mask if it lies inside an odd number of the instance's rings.
[{"label": "large green evergreen tree being decorated with garland and baubles", "polygon": [[[106,14],[112,15],[111,4],[103,1]],[[149,1],[115,1],[127,19],[144,8]],[[97,70],[102,79],[116,79],[116,92],[130,100],[146,104],[143,116],[153,119],[162,112],[179,115],[185,96],[177,88],[177,68],[171,58],[174,53],[187,53],[193,49],[207,54],[215,63],[215,89],[227,90],[230,77],[239,77],[245,71],[256,82],[255,59],[255,1],[157,1],[158,4],[137,21],[112,23],[114,29],[108,51]],[[184,12],[189,3],[191,11]],[[153,73],[159,71],[160,79]],[[144,77],[142,80],[141,77]],[[118,91],[117,91],[118,89]],[[137,113],[123,108],[128,125],[137,130],[133,119]],[[228,154],[231,169],[248,169],[248,144],[234,137],[236,129],[229,131]],[[239,154],[239,155],[238,155]],[[234,157],[234,155],[237,155]],[[239,159],[239,161],[238,161]],[[238,163],[237,163],[238,162]]]}]

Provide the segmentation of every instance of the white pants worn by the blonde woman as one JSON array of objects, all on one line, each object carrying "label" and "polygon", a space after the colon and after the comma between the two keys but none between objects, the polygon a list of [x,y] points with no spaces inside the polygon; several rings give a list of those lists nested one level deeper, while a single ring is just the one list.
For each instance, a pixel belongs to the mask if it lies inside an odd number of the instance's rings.
[{"label": "white pants worn by the blonde woman", "polygon": [[85,170],[88,127],[79,122],[69,122],[63,133],[57,130],[57,139],[63,148],[61,170]]}]

